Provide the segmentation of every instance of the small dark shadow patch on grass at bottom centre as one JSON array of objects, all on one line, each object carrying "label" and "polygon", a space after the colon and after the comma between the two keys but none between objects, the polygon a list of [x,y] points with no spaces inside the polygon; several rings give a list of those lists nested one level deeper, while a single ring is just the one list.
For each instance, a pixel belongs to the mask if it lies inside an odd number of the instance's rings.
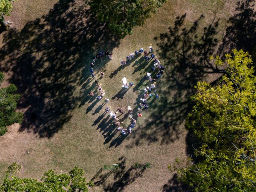
[{"label": "small dark shadow patch on grass at bottom centre", "polygon": [[[131,184],[136,178],[141,177],[146,170],[146,165],[141,168],[135,166],[126,167],[126,158],[124,156],[118,159],[119,168],[110,170],[100,170],[91,179],[96,186],[102,186],[105,192],[119,192],[124,187]],[[113,176],[112,182],[108,180]]]}]

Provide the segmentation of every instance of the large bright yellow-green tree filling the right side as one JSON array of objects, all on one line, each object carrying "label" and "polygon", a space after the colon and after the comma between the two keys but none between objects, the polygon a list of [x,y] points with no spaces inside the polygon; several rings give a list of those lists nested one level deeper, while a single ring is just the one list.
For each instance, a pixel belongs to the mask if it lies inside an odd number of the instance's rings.
[{"label": "large bright yellow-green tree filling the right side", "polygon": [[256,78],[248,52],[216,57],[225,74],[217,85],[198,82],[187,126],[200,147],[189,166],[176,166],[193,191],[256,191]]}]

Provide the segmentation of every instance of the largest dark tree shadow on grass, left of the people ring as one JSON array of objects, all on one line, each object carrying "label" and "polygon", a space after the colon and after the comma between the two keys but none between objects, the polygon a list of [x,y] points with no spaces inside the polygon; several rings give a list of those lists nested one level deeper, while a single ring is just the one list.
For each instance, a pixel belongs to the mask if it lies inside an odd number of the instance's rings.
[{"label": "largest dark tree shadow on grass, left of the people ring", "polygon": [[[86,86],[80,92],[75,90],[78,84],[92,81],[93,54],[100,49],[111,52],[118,44],[85,3],[74,0],[60,0],[48,14],[27,22],[22,30],[4,34],[0,70],[10,74],[10,82],[22,95],[20,131],[48,138],[58,132],[78,102],[86,102]],[[102,65],[108,61],[102,60]]]}]

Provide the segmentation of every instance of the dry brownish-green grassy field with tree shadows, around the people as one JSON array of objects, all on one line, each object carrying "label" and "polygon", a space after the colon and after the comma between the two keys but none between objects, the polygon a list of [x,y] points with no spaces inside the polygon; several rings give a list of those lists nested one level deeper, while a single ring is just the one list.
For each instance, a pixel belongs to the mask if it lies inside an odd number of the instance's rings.
[{"label": "dry brownish-green grassy field with tree shadows, around the people", "polygon": [[[235,0],[169,0],[144,26],[119,39],[96,22],[83,1],[15,2],[9,17],[13,28],[0,34],[0,70],[6,74],[3,86],[17,85],[18,109],[25,117],[0,137],[0,178],[16,161],[22,165],[20,176],[38,179],[50,168],[60,173],[79,166],[96,184],[90,191],[182,190],[167,165],[191,154],[194,139],[184,127],[189,98],[196,82],[221,76],[208,56],[234,47],[229,37],[235,34],[228,32],[236,23],[228,19],[242,13],[239,7]],[[150,44],[166,68],[156,82],[160,98],[149,100],[132,134],[121,136],[104,108],[129,105],[136,114],[142,90],[150,84],[142,77],[152,64],[141,64],[138,57],[122,68],[120,60]],[[95,67],[97,78],[105,73],[100,78],[110,99],[105,105],[88,96],[96,92],[90,62],[101,50],[114,57]],[[135,86],[121,94],[124,76]],[[127,116],[120,118],[128,126]],[[136,169],[136,162],[150,168]],[[104,170],[114,163],[121,167]]]}]

